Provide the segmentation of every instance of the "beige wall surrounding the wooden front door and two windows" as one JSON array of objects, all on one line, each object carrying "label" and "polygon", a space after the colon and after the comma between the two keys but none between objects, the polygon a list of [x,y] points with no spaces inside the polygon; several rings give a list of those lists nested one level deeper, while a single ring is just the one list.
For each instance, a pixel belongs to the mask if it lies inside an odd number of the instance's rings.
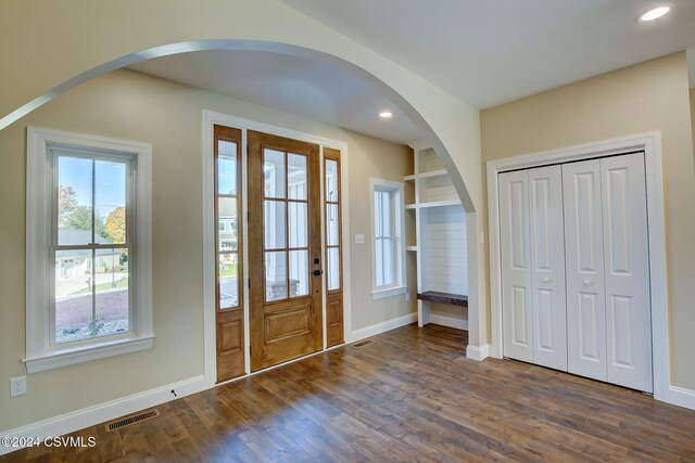
[{"label": "beige wall surrounding the wooden front door and two windows", "polygon": [[[154,348],[28,375],[28,394],[0,394],[0,430],[203,373],[201,112],[247,117],[348,143],[351,233],[369,239],[369,177],[412,172],[406,146],[142,74],[118,70],[77,87],[0,131],[0,384],[25,374],[26,126],[153,144]],[[369,242],[369,241],[367,241]],[[353,329],[416,310],[368,296],[369,246],[354,247]],[[414,274],[410,268],[410,274]],[[414,288],[414,284],[410,285]],[[1,433],[0,433],[1,434]]]}]

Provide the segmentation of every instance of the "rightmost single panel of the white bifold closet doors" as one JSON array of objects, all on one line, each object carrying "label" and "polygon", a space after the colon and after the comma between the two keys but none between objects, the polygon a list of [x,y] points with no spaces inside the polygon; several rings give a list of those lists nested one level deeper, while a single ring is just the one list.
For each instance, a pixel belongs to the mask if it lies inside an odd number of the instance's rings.
[{"label": "rightmost single panel of the white bifold closet doors", "polygon": [[644,155],[601,160],[608,382],[652,391]]}]

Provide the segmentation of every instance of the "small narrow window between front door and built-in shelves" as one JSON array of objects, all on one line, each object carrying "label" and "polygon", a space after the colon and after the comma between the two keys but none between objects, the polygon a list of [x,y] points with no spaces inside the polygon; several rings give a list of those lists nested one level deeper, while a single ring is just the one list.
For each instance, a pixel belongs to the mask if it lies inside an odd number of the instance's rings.
[{"label": "small narrow window between front door and built-in shelves", "polygon": [[403,184],[371,179],[372,297],[406,292]]}]

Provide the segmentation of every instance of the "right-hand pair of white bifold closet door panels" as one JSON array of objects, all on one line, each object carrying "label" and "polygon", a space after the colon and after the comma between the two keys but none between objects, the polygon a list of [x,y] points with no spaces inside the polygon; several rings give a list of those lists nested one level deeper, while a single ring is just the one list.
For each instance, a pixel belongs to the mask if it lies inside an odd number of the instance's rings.
[{"label": "right-hand pair of white bifold closet door panels", "polygon": [[569,372],[652,391],[644,155],[563,166]]}]

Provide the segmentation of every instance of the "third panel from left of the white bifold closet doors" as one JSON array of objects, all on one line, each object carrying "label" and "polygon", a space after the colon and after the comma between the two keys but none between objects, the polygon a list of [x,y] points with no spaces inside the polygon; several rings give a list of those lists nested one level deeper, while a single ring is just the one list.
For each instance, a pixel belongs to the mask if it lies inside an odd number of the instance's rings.
[{"label": "third panel from left of the white bifold closet doors", "polygon": [[601,163],[563,166],[568,371],[606,381]]}]

